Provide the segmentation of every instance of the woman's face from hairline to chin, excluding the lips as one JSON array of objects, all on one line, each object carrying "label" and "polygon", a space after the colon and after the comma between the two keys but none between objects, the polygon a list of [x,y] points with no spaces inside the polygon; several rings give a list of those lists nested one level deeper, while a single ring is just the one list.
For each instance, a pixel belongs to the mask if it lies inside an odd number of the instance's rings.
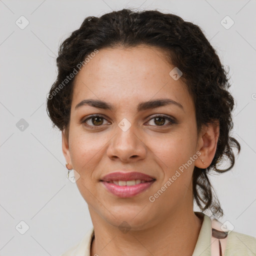
[{"label": "woman's face from hairline to chin, excluding the lips", "polygon": [[[125,220],[141,229],[191,207],[192,170],[201,164],[196,152],[203,140],[190,94],[169,75],[173,68],[161,49],[141,45],[100,49],[76,75],[62,148],[80,175],[76,184],[92,219],[114,226]],[[100,181],[115,171],[154,181],[133,196],[117,196]]]}]

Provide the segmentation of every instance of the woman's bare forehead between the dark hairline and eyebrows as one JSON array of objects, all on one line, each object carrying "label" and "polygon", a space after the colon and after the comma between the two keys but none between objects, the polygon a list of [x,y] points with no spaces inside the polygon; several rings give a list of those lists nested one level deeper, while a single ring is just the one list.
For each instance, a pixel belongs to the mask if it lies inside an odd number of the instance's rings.
[{"label": "woman's bare forehead between the dark hairline and eyebrows", "polygon": [[118,104],[167,97],[187,104],[186,85],[169,75],[173,68],[158,47],[100,49],[76,75],[71,107],[86,98]]}]

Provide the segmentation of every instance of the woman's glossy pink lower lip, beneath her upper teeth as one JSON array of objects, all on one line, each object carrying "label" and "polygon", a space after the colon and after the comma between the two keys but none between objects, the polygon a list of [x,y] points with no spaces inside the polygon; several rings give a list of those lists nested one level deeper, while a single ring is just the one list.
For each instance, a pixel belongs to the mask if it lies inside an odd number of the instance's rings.
[{"label": "woman's glossy pink lower lip, beneath her upper teeth", "polygon": [[145,189],[147,189],[155,180],[146,181],[144,183],[136,184],[133,186],[119,186],[114,183],[109,183],[106,181],[101,181],[106,189],[112,194],[118,197],[131,197],[138,193],[141,193]]}]

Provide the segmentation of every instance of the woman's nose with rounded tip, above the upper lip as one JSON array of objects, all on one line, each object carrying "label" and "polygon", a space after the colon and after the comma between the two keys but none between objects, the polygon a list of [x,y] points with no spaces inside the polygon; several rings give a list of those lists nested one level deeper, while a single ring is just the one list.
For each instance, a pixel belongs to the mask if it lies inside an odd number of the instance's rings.
[{"label": "woman's nose with rounded tip, above the upper lip", "polygon": [[145,158],[146,145],[139,133],[133,125],[126,131],[117,126],[116,132],[107,147],[107,156],[111,160],[119,159],[122,162]]}]

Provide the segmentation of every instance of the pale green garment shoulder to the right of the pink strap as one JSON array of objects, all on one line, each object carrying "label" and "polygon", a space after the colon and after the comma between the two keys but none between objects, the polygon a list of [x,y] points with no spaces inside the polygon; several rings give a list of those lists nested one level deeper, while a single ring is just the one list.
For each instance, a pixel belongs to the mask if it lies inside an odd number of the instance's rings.
[{"label": "pale green garment shoulder to the right of the pink strap", "polygon": [[[229,253],[229,254],[228,254]],[[225,255],[256,255],[256,237],[231,231],[227,235]]]}]

